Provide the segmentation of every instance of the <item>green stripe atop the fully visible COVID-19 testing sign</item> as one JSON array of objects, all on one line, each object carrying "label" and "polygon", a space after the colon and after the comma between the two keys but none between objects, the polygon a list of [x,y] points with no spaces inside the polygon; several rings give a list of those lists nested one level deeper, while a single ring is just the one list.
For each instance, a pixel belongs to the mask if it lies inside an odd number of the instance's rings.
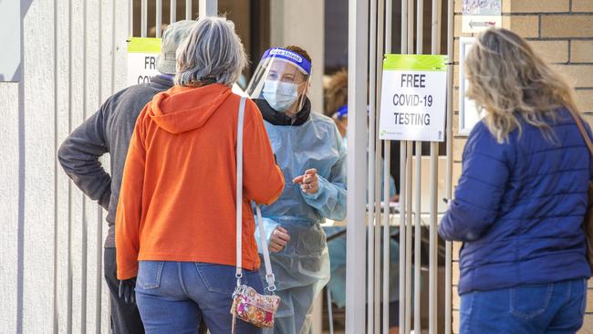
[{"label": "green stripe atop the fully visible COVID-19 testing sign", "polygon": [[385,55],[384,70],[446,71],[447,56]]}]

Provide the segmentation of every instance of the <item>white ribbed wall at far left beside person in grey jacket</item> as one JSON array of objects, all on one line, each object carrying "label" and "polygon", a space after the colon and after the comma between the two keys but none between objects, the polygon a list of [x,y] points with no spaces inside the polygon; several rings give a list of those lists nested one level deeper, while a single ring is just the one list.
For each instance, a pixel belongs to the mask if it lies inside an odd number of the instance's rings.
[{"label": "white ribbed wall at far left beside person in grey jacket", "polygon": [[[97,205],[70,185],[56,151],[70,130],[124,85],[128,5],[126,0],[87,0],[86,17],[84,5],[84,0],[21,0],[23,79],[0,83],[2,333],[95,332],[97,282],[102,287],[100,329],[109,332],[107,287],[97,266],[106,223]],[[83,231],[88,234],[86,266]]]}]

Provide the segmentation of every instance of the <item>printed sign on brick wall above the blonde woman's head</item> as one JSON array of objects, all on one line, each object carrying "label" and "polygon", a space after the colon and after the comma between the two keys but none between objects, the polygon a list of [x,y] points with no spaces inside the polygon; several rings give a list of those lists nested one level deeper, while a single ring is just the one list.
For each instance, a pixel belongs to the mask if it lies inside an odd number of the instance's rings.
[{"label": "printed sign on brick wall above the blonde woman's head", "polygon": [[463,0],[462,32],[479,33],[503,26],[501,0]]}]

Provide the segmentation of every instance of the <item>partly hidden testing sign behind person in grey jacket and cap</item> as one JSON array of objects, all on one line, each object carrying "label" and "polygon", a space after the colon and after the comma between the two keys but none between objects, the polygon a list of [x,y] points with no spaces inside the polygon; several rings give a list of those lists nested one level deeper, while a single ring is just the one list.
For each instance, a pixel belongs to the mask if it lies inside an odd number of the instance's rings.
[{"label": "partly hidden testing sign behind person in grey jacket and cap", "polygon": [[151,82],[159,74],[157,57],[161,53],[161,38],[131,37],[128,42],[128,86]]}]

